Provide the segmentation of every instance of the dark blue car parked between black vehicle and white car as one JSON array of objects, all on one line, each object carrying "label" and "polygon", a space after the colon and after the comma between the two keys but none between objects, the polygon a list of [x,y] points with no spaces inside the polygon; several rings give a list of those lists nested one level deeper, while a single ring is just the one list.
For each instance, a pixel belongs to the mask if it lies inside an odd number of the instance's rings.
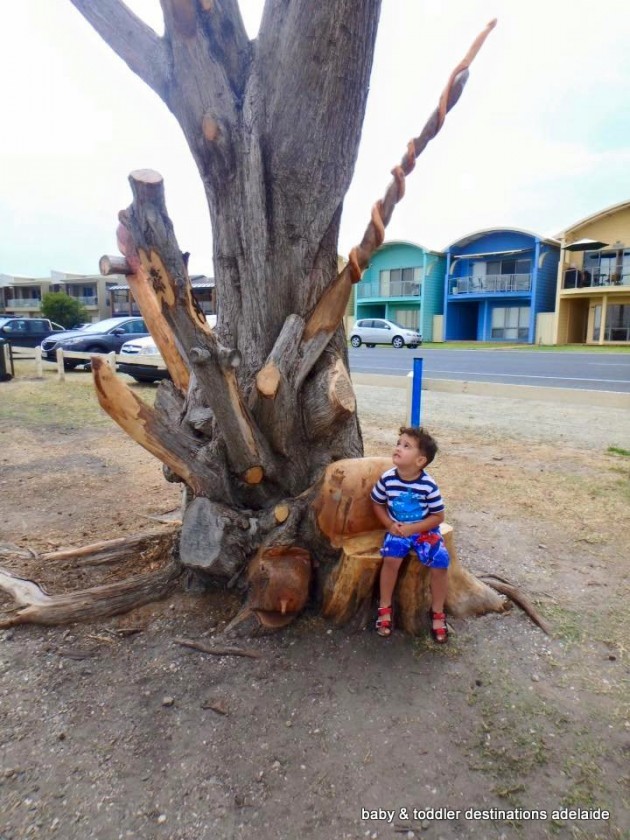
[{"label": "dark blue car parked between black vehicle and white car", "polygon": [[[71,350],[78,353],[118,353],[130,338],[140,338],[149,331],[142,318],[107,318],[96,324],[89,324],[82,330],[51,335],[42,342],[42,356],[51,362],[57,358],[57,350]],[[88,359],[65,359],[64,366],[72,369],[85,364]]]}]

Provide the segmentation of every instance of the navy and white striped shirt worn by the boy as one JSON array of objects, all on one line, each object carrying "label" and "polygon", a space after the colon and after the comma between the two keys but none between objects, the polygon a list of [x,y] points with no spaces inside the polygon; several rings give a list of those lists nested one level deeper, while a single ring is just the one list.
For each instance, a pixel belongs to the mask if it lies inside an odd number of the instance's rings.
[{"label": "navy and white striped shirt worn by the boy", "polygon": [[379,505],[387,505],[387,512],[395,522],[419,522],[444,510],[439,488],[424,470],[413,481],[405,481],[396,467],[392,467],[376,482],[370,498]]}]

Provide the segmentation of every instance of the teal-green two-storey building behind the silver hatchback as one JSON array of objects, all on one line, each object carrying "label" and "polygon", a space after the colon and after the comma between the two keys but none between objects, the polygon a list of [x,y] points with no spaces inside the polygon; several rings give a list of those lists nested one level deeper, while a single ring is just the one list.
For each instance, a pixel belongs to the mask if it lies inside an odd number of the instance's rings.
[{"label": "teal-green two-storey building behind the silver hatchback", "polygon": [[433,340],[443,312],[444,254],[412,242],[386,242],[356,285],[355,318],[387,318]]}]

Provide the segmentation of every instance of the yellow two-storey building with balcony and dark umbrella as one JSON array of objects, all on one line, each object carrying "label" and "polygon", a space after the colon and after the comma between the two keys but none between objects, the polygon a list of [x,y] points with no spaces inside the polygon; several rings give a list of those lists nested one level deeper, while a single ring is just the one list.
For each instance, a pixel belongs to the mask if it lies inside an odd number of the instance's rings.
[{"label": "yellow two-storey building with balcony and dark umbrella", "polygon": [[554,344],[630,344],[630,201],[557,238]]}]

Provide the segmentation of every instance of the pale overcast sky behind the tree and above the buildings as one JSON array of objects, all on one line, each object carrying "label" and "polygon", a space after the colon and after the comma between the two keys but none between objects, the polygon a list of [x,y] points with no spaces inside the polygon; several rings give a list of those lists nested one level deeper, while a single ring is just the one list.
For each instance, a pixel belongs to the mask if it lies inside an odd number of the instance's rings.
[{"label": "pale overcast sky behind the tree and above the buildings", "polygon": [[[158,0],[128,5],[161,32]],[[241,0],[252,37],[261,7]],[[627,0],[383,0],[342,254],[493,17],[387,238],[441,249],[487,227],[550,235],[630,199]],[[143,167],[164,176],[191,270],[213,273],[208,211],[177,123],[69,0],[2,4],[0,77],[0,273],[97,271],[102,254],[117,253],[127,175]]]}]

